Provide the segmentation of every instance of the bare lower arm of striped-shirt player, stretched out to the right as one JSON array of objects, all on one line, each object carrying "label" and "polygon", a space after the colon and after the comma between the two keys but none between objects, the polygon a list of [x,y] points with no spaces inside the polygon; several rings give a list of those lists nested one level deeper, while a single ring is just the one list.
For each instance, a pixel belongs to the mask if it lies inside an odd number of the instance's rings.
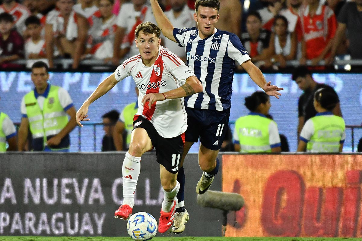
[{"label": "bare lower arm of striped-shirt player, stretched out to the right", "polygon": [[241,67],[245,69],[245,71],[249,74],[250,78],[265,91],[267,95],[275,96],[279,99],[278,95],[281,95],[278,90],[283,90],[283,88],[279,88],[278,86],[271,85],[270,81],[266,82],[263,73],[261,73],[260,69],[253,64],[252,61],[248,60],[241,64]]}]

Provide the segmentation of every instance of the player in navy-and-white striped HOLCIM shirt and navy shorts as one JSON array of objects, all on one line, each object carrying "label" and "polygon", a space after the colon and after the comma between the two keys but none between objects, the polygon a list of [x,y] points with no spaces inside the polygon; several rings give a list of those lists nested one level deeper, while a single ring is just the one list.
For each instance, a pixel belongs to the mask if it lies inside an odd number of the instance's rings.
[{"label": "player in navy-and-white striped HOLCIM shirt and navy shorts", "polygon": [[185,148],[181,159],[177,180],[180,192],[176,218],[172,231],[181,233],[189,215],[184,205],[185,173],[182,168],[186,154],[194,142],[200,138],[199,165],[203,171],[196,186],[198,194],[205,193],[219,169],[217,159],[229,123],[232,79],[235,62],[241,65],[251,79],[266,94],[278,98],[277,91],[282,90],[266,82],[260,69],[250,60],[248,52],[240,39],[227,31],[215,28],[219,19],[220,3],[218,0],[196,0],[194,20],[197,28],[178,29],[163,13],[157,0],[151,0],[153,15],[166,38],[185,47],[188,65],[201,81],[203,92],[185,98],[188,113],[188,129],[185,133]]}]

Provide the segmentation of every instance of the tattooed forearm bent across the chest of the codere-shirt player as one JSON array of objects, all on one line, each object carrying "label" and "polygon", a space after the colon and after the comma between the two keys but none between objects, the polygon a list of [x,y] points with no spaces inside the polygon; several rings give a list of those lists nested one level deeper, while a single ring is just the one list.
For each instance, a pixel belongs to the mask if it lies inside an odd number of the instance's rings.
[{"label": "tattooed forearm bent across the chest of the codere-shirt player", "polygon": [[142,99],[142,104],[144,105],[148,101],[148,105],[151,108],[152,104],[157,100],[182,98],[201,92],[202,90],[203,87],[201,85],[201,82],[196,78],[196,76],[190,76],[186,79],[186,83],[178,87],[177,89],[170,90],[164,93],[150,93],[145,95]]}]

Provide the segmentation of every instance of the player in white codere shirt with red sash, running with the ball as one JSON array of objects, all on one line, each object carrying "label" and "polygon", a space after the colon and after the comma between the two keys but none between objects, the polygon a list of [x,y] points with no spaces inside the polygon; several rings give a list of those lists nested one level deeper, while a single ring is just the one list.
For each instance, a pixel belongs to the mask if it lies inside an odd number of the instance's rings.
[{"label": "player in white codere shirt with red sash, running with the ball", "polygon": [[[187,129],[187,114],[182,98],[201,92],[202,86],[180,58],[160,46],[160,34],[161,29],[151,22],[137,26],[135,43],[140,54],[127,59],[100,83],[77,112],[76,121],[82,126],[80,121],[89,120],[87,112],[92,102],[123,78],[133,77],[139,89],[139,108],[134,117],[130,147],[122,166],[123,204],[114,216],[122,219],[131,216],[141,156],[155,147],[164,190],[158,230],[164,233],[173,223],[176,195],[180,188],[176,177]],[[181,82],[184,84],[181,85]]]}]

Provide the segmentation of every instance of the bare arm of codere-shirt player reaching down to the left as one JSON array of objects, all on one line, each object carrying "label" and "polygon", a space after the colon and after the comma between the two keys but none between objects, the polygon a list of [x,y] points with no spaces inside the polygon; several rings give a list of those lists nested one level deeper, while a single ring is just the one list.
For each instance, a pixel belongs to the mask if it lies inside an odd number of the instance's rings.
[{"label": "bare arm of codere-shirt player reaching down to the left", "polygon": [[80,109],[76,113],[75,118],[76,118],[77,124],[79,126],[83,127],[83,125],[80,124],[80,121],[89,120],[89,118],[87,118],[89,105],[92,104],[95,100],[97,100],[101,96],[103,96],[105,93],[107,93],[117,83],[118,83],[118,81],[115,78],[114,73],[113,73],[98,85],[97,89],[94,90],[94,92],[88,97],[88,99],[85,100],[83,105],[80,107]]}]

